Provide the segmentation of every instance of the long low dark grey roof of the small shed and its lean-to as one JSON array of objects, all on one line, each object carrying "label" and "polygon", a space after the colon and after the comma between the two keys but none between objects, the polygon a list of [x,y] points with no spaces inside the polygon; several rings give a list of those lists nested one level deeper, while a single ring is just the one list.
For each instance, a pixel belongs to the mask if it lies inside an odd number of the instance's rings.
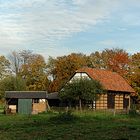
[{"label": "long low dark grey roof of the small shed and its lean-to", "polygon": [[6,91],[5,98],[17,99],[58,99],[58,93],[47,93],[46,91]]}]

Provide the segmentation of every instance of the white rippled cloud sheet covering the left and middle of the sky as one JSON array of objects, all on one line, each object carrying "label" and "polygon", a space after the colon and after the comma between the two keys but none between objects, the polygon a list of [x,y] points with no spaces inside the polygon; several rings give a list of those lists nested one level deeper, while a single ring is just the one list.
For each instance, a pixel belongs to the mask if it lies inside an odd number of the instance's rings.
[{"label": "white rippled cloud sheet covering the left and middle of the sky", "polygon": [[6,0],[0,4],[0,46],[57,52],[59,40],[108,20],[119,1]]}]

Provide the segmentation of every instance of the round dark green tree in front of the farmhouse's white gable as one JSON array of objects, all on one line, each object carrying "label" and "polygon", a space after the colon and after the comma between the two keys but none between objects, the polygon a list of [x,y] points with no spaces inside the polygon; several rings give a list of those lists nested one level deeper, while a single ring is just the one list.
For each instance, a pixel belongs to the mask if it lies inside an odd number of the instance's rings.
[{"label": "round dark green tree in front of the farmhouse's white gable", "polygon": [[82,99],[97,100],[99,94],[103,93],[103,91],[103,86],[100,82],[93,79],[81,78],[67,83],[59,92],[59,96],[62,99],[79,100],[79,108],[81,110]]}]

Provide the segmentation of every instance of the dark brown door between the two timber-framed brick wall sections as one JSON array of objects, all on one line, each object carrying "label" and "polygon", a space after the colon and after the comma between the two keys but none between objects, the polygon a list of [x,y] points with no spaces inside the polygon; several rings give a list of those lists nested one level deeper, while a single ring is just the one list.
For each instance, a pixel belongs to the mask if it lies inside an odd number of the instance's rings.
[{"label": "dark brown door between the two timber-framed brick wall sections", "polygon": [[107,95],[107,108],[114,109],[115,108],[115,95],[108,94]]}]

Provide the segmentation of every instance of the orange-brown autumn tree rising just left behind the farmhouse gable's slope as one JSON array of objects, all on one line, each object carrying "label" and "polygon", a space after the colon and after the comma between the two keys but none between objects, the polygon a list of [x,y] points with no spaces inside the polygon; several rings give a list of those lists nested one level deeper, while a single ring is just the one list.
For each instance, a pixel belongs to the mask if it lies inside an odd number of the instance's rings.
[{"label": "orange-brown autumn tree rising just left behind the farmhouse gable's slope", "polygon": [[83,54],[72,53],[56,59],[50,57],[47,63],[48,73],[53,78],[49,86],[50,92],[58,91],[77,69],[84,66],[87,66],[87,62]]}]

